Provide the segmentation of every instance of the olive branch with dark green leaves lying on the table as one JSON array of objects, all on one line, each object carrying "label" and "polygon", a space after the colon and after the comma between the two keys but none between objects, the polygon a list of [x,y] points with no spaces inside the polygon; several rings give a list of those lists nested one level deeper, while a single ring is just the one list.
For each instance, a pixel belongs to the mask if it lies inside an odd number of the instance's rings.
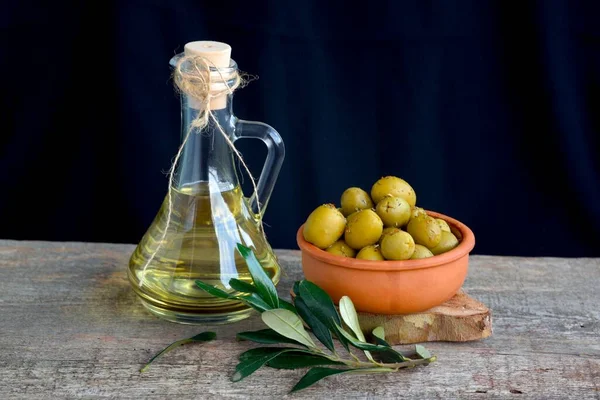
[{"label": "olive branch with dark green leaves lying on the table", "polygon": [[[281,299],[252,250],[241,244],[238,244],[237,249],[248,265],[253,284],[231,279],[229,286],[238,294],[227,293],[202,281],[196,281],[196,284],[213,296],[239,300],[260,313],[268,328],[240,332],[237,334],[239,340],[286,346],[256,347],[240,354],[232,381],[241,381],[263,366],[275,369],[310,367],[292,388],[291,391],[295,392],[332,375],[395,372],[428,365],[436,360],[436,357],[421,345],[416,345],[410,353],[393,349],[386,342],[381,326],[372,332],[373,343],[367,342],[352,300],[347,296],[342,297],[338,312],[331,297],[310,281],[301,280],[294,283],[294,304]],[[313,336],[326,349],[318,346]],[[174,342],[152,357],[140,372],[146,371],[157,357],[182,344],[207,342],[215,338],[214,332],[203,332]],[[338,353],[334,338],[349,357]],[[364,352],[366,360],[359,358],[352,349]]]}]

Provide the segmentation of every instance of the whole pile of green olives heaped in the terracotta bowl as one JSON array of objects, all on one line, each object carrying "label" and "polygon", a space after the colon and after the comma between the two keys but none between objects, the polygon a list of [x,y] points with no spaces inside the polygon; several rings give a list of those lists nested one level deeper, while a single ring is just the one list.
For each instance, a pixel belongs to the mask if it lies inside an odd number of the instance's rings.
[{"label": "whole pile of green olives heaped in the terracotta bowl", "polygon": [[311,212],[304,240],[334,255],[375,261],[433,257],[458,246],[446,221],[417,207],[414,189],[401,178],[379,179],[370,194],[348,188],[340,203]]}]

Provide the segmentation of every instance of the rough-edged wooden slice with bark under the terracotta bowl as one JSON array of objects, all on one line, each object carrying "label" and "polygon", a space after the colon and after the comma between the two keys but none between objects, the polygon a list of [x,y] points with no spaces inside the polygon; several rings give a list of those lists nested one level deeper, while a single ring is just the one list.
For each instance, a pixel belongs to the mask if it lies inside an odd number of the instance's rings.
[{"label": "rough-edged wooden slice with bark under the terracotta bowl", "polygon": [[490,310],[481,302],[459,291],[444,304],[428,311],[408,315],[358,313],[365,335],[383,326],[390,344],[422,342],[467,342],[492,334]]}]

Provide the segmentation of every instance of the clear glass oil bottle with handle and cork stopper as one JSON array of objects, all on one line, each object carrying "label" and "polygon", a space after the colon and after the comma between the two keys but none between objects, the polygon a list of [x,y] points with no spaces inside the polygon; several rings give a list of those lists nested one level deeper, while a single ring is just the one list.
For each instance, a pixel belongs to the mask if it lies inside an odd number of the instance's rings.
[{"label": "clear glass oil bottle with handle and cork stopper", "polygon": [[[171,59],[171,66],[179,57],[190,54],[209,60],[210,79],[217,82],[215,85],[234,84],[229,77],[235,75],[237,65],[230,58],[229,45],[188,43],[183,53]],[[251,248],[273,282],[279,281],[280,266],[261,229],[260,213],[264,213],[283,162],[283,141],[266,124],[237,119],[232,111],[232,97],[225,93],[212,98],[210,111],[215,120],[197,129],[191,124],[198,117],[200,106],[181,93],[184,143],[170,198],[165,197],[130,258],[128,277],[133,289],[148,310],[166,320],[227,323],[252,312],[243,303],[216,298],[195,284],[202,280],[235,293],[228,284],[231,278],[251,283],[245,261],[236,249],[238,243]],[[258,138],[268,147],[257,191],[250,198],[244,197],[240,188],[231,148],[241,138]]]}]

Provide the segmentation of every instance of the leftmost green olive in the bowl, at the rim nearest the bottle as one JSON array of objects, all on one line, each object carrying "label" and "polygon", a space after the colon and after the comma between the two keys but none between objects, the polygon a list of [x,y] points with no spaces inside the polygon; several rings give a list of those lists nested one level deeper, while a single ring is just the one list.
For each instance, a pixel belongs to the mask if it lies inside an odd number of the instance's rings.
[{"label": "leftmost green olive in the bowl, at the rim nearest the bottle", "polygon": [[317,207],[304,223],[304,240],[320,249],[334,244],[343,234],[346,218],[333,204]]}]

